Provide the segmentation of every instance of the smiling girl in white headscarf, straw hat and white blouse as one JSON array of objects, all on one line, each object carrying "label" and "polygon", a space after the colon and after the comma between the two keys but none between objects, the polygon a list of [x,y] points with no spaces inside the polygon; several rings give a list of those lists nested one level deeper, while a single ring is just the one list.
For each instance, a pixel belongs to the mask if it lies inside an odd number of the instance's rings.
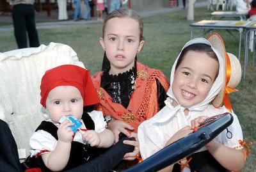
[{"label": "smiling girl in white headscarf, straw hat and white blouse", "polygon": [[226,130],[187,159],[162,170],[241,171],[246,157],[243,133],[227,96],[237,91],[240,80],[241,65],[225,52],[220,35],[187,42],[172,67],[166,106],[138,128],[141,157],[147,159],[193,132],[205,118],[231,113],[234,121]]}]

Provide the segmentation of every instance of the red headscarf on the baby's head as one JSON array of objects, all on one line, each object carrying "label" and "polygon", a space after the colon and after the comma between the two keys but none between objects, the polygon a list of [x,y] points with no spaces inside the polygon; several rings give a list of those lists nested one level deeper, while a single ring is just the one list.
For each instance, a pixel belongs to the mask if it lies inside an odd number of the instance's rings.
[{"label": "red headscarf on the baby's head", "polygon": [[76,65],[61,65],[47,70],[41,80],[41,104],[45,106],[49,92],[57,86],[76,87],[84,100],[84,106],[100,102],[93,86],[90,72]]}]

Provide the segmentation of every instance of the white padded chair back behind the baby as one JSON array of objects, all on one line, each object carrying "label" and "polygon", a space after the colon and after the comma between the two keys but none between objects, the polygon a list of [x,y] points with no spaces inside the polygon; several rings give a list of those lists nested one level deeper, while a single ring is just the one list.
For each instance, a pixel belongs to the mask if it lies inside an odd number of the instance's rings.
[{"label": "white padded chair back behind the baby", "polygon": [[55,66],[84,68],[76,52],[61,43],[0,53],[0,118],[6,121],[18,149],[29,155],[29,137],[44,120],[40,105],[40,81]]}]

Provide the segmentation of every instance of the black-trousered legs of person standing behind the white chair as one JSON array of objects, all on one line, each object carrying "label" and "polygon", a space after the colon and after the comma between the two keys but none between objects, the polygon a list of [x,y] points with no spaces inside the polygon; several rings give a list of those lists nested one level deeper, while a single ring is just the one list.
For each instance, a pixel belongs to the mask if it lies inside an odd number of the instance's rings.
[{"label": "black-trousered legs of person standing behind the white chair", "polygon": [[39,39],[36,31],[34,0],[11,0],[14,35],[19,49],[38,47]]}]

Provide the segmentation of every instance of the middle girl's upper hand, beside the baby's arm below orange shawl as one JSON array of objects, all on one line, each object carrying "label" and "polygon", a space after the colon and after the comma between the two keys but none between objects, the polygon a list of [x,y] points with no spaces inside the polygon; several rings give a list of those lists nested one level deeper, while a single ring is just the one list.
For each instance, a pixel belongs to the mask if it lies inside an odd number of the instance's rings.
[{"label": "middle girl's upper hand, beside the baby's arm below orange shawl", "polygon": [[115,143],[117,143],[119,140],[120,132],[124,133],[127,137],[130,137],[130,133],[126,129],[134,130],[131,125],[119,120],[110,121],[109,129],[114,133]]}]

